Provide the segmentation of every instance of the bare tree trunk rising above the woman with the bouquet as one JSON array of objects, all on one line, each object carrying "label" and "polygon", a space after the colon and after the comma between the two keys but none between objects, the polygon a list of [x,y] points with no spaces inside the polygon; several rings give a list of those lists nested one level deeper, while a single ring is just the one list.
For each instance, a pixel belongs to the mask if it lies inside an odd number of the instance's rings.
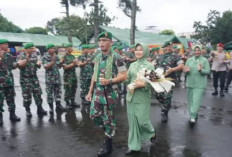
[{"label": "bare tree trunk rising above the woman with the bouquet", "polygon": [[131,29],[130,29],[130,44],[135,44],[135,23],[136,23],[136,6],[137,0],[132,2],[132,11],[131,11]]}]

